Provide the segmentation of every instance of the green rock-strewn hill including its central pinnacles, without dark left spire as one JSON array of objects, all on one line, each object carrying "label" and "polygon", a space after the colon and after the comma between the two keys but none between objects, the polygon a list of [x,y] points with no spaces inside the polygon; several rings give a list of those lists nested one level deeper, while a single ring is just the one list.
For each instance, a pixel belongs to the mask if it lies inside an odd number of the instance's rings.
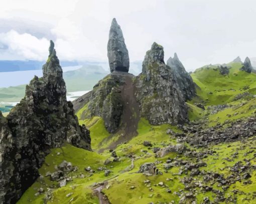
[{"label": "green rock-strewn hill including its central pinnacles, without dark left spire", "polygon": [[[52,148],[18,203],[255,203],[256,74],[231,62],[190,77],[154,43],[133,76],[112,25],[112,73],[74,102],[94,151]],[[55,179],[64,161],[77,168]]]}]

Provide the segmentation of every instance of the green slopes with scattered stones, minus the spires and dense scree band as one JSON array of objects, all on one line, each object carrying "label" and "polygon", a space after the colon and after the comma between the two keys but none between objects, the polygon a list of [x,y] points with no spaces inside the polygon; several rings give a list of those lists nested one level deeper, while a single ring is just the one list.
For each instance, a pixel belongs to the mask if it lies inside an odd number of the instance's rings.
[{"label": "green slopes with scattered stones, minus the spires and dense scree band", "polygon": [[[203,129],[214,126],[221,131],[233,121],[255,116],[256,74],[239,71],[239,63],[227,66],[227,75],[221,75],[217,66],[200,68],[191,75],[197,96],[187,102],[189,118]],[[183,127],[153,126],[141,118],[138,135],[118,143],[124,136],[121,130],[108,133],[100,117],[81,119],[87,108],[82,107],[77,116],[90,129],[94,152],[69,144],[52,149],[39,169],[42,176],[18,203],[100,203],[96,190],[100,186],[100,194],[112,204],[256,202],[255,132],[232,142],[196,148],[181,144],[175,136],[190,136]],[[64,160],[77,166],[76,170],[58,180],[46,176]],[[152,168],[151,172],[142,170],[141,166],[151,163],[158,174]],[[60,187],[64,178],[66,185]]]}]

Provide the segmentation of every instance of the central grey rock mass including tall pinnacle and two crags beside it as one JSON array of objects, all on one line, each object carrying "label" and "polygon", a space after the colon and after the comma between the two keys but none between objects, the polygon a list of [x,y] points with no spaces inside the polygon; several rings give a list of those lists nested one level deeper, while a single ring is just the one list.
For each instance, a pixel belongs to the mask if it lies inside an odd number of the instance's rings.
[{"label": "central grey rock mass including tall pinnacle and two crags beside it", "polygon": [[[188,120],[185,101],[195,95],[195,86],[177,55],[164,62],[163,47],[154,43],[146,53],[142,73],[135,77],[128,69],[129,56],[122,32],[113,19],[108,41],[110,72],[93,90],[74,101],[75,110],[87,106],[82,120],[100,116],[105,128],[114,133],[122,124],[127,132],[136,132],[138,119],[146,117],[151,124],[183,124]],[[137,117],[135,117],[136,115]]]}]

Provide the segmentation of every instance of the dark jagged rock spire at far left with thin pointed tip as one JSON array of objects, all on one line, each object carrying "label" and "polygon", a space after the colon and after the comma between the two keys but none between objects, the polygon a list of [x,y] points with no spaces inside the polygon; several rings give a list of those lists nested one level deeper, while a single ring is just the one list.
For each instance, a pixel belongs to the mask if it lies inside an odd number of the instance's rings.
[{"label": "dark jagged rock spire at far left with thin pointed tip", "polygon": [[43,77],[35,76],[7,118],[0,114],[0,203],[15,203],[39,176],[50,148],[64,142],[91,150],[89,130],[66,100],[62,69],[51,41]]}]

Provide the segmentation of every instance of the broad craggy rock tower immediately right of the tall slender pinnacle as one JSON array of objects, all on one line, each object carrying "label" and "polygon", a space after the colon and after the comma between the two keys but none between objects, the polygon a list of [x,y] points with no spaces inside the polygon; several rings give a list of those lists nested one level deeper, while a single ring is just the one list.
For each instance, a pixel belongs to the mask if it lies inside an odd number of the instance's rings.
[{"label": "broad craggy rock tower immediately right of the tall slender pinnacle", "polygon": [[164,63],[163,47],[153,43],[137,77],[136,97],[142,117],[151,124],[178,124],[188,119],[185,97],[179,88],[173,69]]}]

